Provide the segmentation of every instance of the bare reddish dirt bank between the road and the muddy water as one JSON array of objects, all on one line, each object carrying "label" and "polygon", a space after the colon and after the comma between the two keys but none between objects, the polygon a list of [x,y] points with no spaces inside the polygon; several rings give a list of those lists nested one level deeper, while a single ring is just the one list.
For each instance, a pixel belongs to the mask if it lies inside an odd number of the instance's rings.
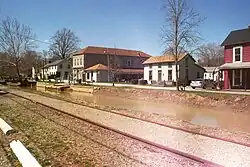
[{"label": "bare reddish dirt bank between the road and the muddy water", "polygon": [[250,112],[248,108],[250,96],[244,95],[115,87],[100,87],[100,89],[95,89],[94,93],[133,100],[172,102],[189,106],[226,108],[228,111],[233,112]]}]

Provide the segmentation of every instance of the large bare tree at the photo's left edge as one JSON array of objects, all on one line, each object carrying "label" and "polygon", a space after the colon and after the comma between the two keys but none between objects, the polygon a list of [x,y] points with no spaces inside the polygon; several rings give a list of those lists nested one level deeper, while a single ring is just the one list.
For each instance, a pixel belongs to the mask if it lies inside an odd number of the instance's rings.
[{"label": "large bare tree at the photo's left edge", "polygon": [[7,60],[1,61],[15,67],[19,80],[20,62],[25,53],[36,46],[33,39],[31,28],[16,19],[7,17],[0,23],[0,48],[9,56]]}]

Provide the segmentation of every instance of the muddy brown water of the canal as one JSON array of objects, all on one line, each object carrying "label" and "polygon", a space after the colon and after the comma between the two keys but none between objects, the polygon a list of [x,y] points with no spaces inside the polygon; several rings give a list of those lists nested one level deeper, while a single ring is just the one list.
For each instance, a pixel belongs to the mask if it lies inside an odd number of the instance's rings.
[{"label": "muddy brown water of the canal", "polygon": [[153,103],[82,92],[45,91],[42,87],[37,87],[37,91],[46,92],[52,95],[56,94],[57,96],[67,97],[78,102],[83,101],[103,107],[109,106],[151,114],[167,115],[196,125],[250,133],[250,114],[235,113],[228,111],[228,109],[187,107],[172,103]]}]

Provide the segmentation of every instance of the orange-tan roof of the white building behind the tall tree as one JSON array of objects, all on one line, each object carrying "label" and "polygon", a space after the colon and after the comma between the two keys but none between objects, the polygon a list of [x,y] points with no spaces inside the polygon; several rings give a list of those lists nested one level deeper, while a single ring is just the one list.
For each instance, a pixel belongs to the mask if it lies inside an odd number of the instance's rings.
[{"label": "orange-tan roof of the white building behind the tall tree", "polygon": [[[182,54],[178,57],[178,61],[181,61],[185,56],[189,54]],[[142,64],[154,64],[154,63],[170,63],[175,62],[175,57],[173,55],[164,55],[164,56],[152,56],[144,61]]]}]

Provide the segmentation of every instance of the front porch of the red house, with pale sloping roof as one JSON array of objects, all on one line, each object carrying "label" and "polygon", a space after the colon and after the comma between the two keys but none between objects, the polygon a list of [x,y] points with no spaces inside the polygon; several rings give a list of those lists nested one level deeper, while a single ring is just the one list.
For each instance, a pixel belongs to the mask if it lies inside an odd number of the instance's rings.
[{"label": "front porch of the red house, with pale sloping roof", "polygon": [[250,89],[250,63],[226,63],[220,67],[224,72],[224,89]]}]

